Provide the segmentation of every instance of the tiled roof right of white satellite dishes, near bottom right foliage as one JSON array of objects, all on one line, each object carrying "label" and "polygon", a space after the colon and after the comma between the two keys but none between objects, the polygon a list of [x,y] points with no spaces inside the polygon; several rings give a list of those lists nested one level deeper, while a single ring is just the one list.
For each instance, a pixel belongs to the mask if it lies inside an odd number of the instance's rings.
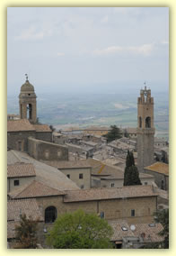
[{"label": "tiled roof right of white satellite dishes, near bottom right foliage", "polygon": [[163,230],[162,224],[135,224],[136,229],[133,233],[141,236],[143,233],[144,242],[161,242],[163,237],[158,233]]}]

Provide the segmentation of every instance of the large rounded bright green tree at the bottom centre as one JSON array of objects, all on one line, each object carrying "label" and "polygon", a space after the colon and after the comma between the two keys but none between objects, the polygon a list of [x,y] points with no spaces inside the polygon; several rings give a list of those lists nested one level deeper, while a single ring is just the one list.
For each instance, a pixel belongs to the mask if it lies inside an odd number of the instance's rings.
[{"label": "large rounded bright green tree at the bottom centre", "polygon": [[47,235],[48,245],[55,249],[112,248],[112,229],[104,220],[83,210],[58,216]]}]

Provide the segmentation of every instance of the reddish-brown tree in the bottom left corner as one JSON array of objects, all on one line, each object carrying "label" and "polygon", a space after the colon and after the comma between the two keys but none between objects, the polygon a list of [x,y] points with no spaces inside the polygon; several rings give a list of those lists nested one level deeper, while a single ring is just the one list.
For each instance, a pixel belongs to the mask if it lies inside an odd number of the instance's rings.
[{"label": "reddish-brown tree in the bottom left corner", "polygon": [[32,220],[31,216],[29,218],[26,215],[21,216],[20,225],[15,226],[15,239],[17,240],[15,249],[35,249],[37,247],[37,225],[38,220]]}]

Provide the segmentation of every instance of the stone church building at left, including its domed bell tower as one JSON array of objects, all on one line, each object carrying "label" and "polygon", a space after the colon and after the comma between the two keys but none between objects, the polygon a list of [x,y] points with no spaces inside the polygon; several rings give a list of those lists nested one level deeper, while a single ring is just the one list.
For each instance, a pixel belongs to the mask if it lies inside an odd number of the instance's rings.
[{"label": "stone church building at left, including its domed bell tower", "polygon": [[38,123],[36,98],[26,77],[19,95],[20,119],[7,121],[7,148],[29,152],[37,160],[68,160],[66,146],[52,143],[48,124]]}]

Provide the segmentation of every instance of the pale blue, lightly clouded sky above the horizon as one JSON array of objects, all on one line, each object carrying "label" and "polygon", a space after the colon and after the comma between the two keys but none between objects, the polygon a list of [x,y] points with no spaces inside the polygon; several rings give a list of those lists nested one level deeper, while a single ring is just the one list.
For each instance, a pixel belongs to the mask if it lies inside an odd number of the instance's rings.
[{"label": "pale blue, lightly clouded sky above the horizon", "polygon": [[168,7],[8,7],[7,93],[169,88]]}]

